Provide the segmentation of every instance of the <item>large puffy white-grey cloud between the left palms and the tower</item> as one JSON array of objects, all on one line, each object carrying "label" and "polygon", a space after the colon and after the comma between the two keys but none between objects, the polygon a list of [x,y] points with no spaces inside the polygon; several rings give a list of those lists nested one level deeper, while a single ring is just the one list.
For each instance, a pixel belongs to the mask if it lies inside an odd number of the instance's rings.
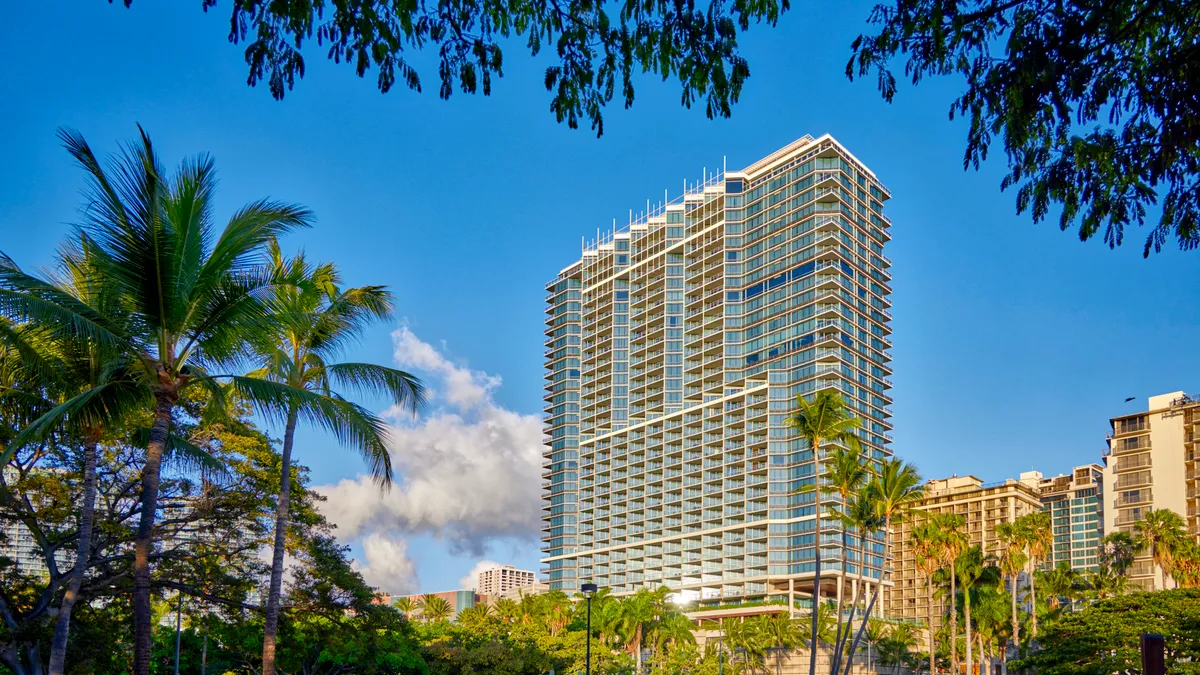
[{"label": "large puffy white-grey cloud between the left palms and the tower", "polygon": [[497,539],[532,543],[540,531],[542,424],[497,405],[498,376],[456,365],[407,327],[392,333],[401,368],[431,374],[442,401],[421,419],[395,416],[397,480],[380,494],[370,478],[318,486],[322,510],[342,537],[431,533],[481,556]]}]

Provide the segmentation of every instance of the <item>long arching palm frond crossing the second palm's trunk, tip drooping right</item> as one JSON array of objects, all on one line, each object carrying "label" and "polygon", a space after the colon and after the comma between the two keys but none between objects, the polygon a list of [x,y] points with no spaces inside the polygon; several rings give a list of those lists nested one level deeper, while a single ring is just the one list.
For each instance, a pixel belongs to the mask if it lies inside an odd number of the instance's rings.
[{"label": "long arching palm frond crossing the second palm's trunk, tip drooping right", "polygon": [[353,446],[367,462],[376,483],[380,488],[390,486],[391,454],[385,443],[388,425],[371,411],[269,380],[235,376],[230,383],[259,414],[283,422],[294,411],[305,422],[334,434],[338,442]]}]

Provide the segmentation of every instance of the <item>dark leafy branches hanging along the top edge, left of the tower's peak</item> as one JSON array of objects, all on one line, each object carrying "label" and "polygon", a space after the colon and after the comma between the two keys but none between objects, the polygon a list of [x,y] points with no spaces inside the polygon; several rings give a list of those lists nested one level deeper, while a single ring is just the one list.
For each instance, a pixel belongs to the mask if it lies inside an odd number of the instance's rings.
[{"label": "dark leafy branches hanging along the top edge, left of the tower's peak", "polygon": [[[221,5],[200,2],[205,11]],[[304,77],[305,56],[318,50],[359,77],[373,72],[386,92],[397,82],[421,91],[426,80],[410,55],[436,49],[442,98],[455,90],[488,95],[492,78],[504,73],[502,43],[520,38],[530,55],[553,49],[558,56],[545,76],[558,121],[574,129],[587,120],[599,136],[602,108],[618,92],[630,107],[638,73],[674,78],[684,106],[703,101],[709,118],[728,117],[750,74],[738,32],[754,23],[774,25],[788,0],[230,0],[230,6],[229,41],[245,47],[248,83],[265,80],[276,98]]]}]

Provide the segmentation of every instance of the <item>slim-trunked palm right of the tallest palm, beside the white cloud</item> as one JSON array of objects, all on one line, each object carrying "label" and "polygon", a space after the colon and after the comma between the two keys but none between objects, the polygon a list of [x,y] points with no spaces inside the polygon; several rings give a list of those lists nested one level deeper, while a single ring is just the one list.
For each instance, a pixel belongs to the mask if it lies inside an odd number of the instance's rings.
[{"label": "slim-trunked palm right of the tallest palm, beside the white cloud", "polygon": [[[392,297],[382,286],[341,288],[341,275],[332,264],[312,265],[304,255],[284,258],[278,244],[271,243],[272,276],[292,283],[274,288],[270,299],[271,328],[257,345],[258,370],[250,377],[278,382],[311,392],[331,404],[346,399],[334,387],[380,394],[397,406],[416,412],[424,399],[420,381],[408,372],[368,363],[332,363],[346,346],[358,339],[371,322],[391,318]],[[358,412],[361,408],[352,408]],[[287,536],[292,485],[292,448],[301,408],[287,406],[283,428],[280,495],[275,512],[275,548],[271,555],[271,581],[266,593],[266,617],[263,625],[263,675],[275,673],[275,634],[280,620],[280,591],[283,581],[283,554]],[[352,414],[353,414],[352,412]],[[364,418],[360,424],[367,425]],[[360,438],[356,448],[372,474],[384,478],[391,471],[388,449],[374,438]]]}]

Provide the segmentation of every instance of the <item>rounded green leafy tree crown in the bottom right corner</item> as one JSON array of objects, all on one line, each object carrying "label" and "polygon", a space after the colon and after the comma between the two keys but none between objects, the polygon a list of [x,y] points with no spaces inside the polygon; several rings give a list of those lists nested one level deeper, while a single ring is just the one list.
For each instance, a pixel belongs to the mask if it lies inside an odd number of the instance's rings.
[{"label": "rounded green leafy tree crown in the bottom right corner", "polygon": [[1014,663],[1045,675],[1138,673],[1139,639],[1163,635],[1168,673],[1200,673],[1200,591],[1133,593],[1096,603],[1046,626],[1039,650]]}]

